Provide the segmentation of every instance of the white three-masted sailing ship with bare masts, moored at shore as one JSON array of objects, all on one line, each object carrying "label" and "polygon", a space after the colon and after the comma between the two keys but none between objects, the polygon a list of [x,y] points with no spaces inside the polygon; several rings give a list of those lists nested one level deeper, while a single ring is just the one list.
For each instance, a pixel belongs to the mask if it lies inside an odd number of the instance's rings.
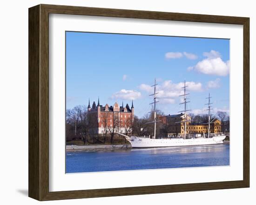
[{"label": "white three-masted sailing ship with bare masts, moored at shore", "polygon": [[184,81],[184,86],[182,87],[182,89],[184,90],[184,94],[182,94],[181,96],[183,97],[183,102],[181,102],[180,104],[184,104],[184,110],[180,111],[182,114],[184,112],[182,116],[182,120],[180,122],[175,122],[175,123],[182,123],[182,125],[184,126],[184,134],[180,135],[180,136],[175,136],[175,137],[169,137],[169,138],[158,138],[156,136],[156,124],[157,122],[161,122],[160,120],[157,120],[156,118],[156,103],[159,102],[157,101],[157,97],[156,95],[158,94],[156,92],[156,80],[154,85],[152,85],[152,87],[154,87],[154,93],[150,96],[153,96],[153,102],[151,102],[150,104],[153,105],[153,110],[151,111],[151,113],[154,115],[154,120],[153,122],[148,122],[148,123],[154,123],[154,135],[153,136],[128,136],[128,135],[124,135],[121,133],[117,133],[119,135],[124,136],[132,145],[132,147],[134,148],[147,148],[147,147],[176,147],[176,146],[196,146],[196,145],[215,145],[215,144],[222,144],[223,140],[226,138],[226,135],[224,135],[223,133],[210,133],[210,124],[215,120],[212,119],[211,120],[211,116],[210,116],[210,110],[211,110],[211,96],[209,94],[209,97],[207,97],[208,99],[208,109],[206,109],[208,111],[208,122],[205,123],[208,127],[208,133],[207,135],[205,135],[205,133],[202,134],[187,134],[187,123],[191,122],[191,120],[188,117],[187,112],[190,111],[189,109],[187,109],[187,103],[189,101],[187,96],[189,95],[189,93],[186,93],[186,88],[188,87],[186,85],[186,81]]}]

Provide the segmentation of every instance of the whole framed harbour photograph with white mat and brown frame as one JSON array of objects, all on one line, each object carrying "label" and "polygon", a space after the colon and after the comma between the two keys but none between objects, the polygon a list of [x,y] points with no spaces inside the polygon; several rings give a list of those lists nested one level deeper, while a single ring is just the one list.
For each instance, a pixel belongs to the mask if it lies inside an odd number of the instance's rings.
[{"label": "whole framed harbour photograph with white mat and brown frame", "polygon": [[249,18],[29,8],[29,197],[249,187]]}]

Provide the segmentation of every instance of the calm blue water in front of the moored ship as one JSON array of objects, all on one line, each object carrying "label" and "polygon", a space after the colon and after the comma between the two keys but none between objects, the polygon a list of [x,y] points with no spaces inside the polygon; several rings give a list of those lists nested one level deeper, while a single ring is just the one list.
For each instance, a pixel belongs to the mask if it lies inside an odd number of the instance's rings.
[{"label": "calm blue water in front of the moored ship", "polygon": [[226,165],[229,165],[229,144],[66,154],[66,173]]}]

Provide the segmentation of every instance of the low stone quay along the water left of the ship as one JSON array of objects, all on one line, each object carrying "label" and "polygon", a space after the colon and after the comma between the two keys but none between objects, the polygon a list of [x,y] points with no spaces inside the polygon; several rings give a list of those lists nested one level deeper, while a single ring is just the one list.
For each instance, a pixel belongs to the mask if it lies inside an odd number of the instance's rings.
[{"label": "low stone quay along the water left of the ship", "polygon": [[131,145],[67,145],[67,152],[86,151],[86,150],[104,150],[104,149],[131,149]]}]

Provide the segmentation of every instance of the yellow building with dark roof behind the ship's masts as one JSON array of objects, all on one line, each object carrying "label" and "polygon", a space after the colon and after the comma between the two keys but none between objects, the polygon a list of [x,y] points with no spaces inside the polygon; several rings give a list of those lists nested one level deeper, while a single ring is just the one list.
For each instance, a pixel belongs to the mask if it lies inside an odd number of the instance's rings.
[{"label": "yellow building with dark roof behind the ship's masts", "polygon": [[[168,137],[181,137],[185,134],[185,123],[184,114],[178,115],[167,115],[162,117],[162,122],[167,124]],[[190,121],[191,117],[187,115],[187,121]],[[210,124],[210,133],[220,133],[221,132],[221,122],[215,119]],[[208,133],[208,123],[193,123],[187,122],[186,134],[207,134]]]}]

